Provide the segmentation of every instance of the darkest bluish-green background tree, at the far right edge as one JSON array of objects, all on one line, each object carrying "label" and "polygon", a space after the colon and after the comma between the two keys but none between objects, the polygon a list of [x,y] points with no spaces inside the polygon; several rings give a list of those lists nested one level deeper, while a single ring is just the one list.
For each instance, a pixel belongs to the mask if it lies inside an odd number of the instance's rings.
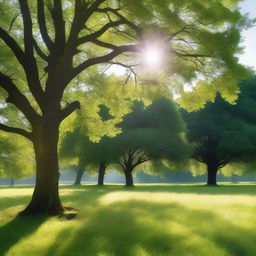
[{"label": "darkest bluish-green background tree, at the far right edge", "polygon": [[192,158],[206,164],[208,185],[217,184],[218,170],[228,164],[246,165],[254,159],[255,86],[255,79],[241,83],[236,105],[229,105],[217,96],[214,103],[208,103],[198,112],[182,112],[188,141],[194,145]]}]

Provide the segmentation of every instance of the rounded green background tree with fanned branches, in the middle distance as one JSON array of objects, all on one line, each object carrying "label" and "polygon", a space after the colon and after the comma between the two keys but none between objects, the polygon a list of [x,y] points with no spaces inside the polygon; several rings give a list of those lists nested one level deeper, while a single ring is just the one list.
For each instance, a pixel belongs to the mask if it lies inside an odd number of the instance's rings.
[{"label": "rounded green background tree with fanned branches, in the middle distance", "polygon": [[126,186],[133,186],[134,169],[147,161],[167,159],[180,163],[188,157],[190,150],[182,138],[183,122],[177,106],[166,98],[148,107],[135,104],[120,127],[123,132],[113,140]]}]

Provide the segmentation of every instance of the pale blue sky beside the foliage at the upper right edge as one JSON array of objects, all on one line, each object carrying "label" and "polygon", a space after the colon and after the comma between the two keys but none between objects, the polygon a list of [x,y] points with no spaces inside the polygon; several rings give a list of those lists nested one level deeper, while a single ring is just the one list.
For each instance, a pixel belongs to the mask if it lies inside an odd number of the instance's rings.
[{"label": "pale blue sky beside the foliage at the upper right edge", "polygon": [[[256,18],[256,0],[244,0],[241,4],[241,12],[249,13],[250,18]],[[243,32],[242,46],[245,47],[240,62],[253,67],[256,70],[256,26]]]}]

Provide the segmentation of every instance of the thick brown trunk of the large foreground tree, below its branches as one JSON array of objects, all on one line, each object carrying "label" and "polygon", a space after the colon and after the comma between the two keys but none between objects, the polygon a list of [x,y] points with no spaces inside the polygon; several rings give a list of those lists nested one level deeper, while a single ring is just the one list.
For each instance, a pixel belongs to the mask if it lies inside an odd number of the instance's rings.
[{"label": "thick brown trunk of the large foreground tree, below its branches", "polygon": [[[47,125],[46,125],[47,124]],[[20,215],[63,213],[65,208],[59,198],[58,163],[59,126],[55,122],[40,122],[33,131],[36,158],[36,185],[32,199]]]}]

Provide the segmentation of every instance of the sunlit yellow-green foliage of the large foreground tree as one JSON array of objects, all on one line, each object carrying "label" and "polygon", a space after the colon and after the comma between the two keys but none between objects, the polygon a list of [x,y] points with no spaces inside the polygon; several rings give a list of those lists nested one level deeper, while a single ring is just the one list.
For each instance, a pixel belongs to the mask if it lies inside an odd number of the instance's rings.
[{"label": "sunlit yellow-green foliage of the large foreground tree", "polygon": [[[20,65],[24,63],[17,54],[17,49],[15,51],[11,46],[10,40],[13,38],[21,50],[24,47],[33,47],[33,65],[37,70],[30,70],[31,74],[41,77],[42,89],[47,87],[52,74],[55,74],[54,79],[64,79],[63,74],[70,75],[62,81],[65,84],[63,88],[67,88],[63,90],[61,105],[64,108],[73,99],[81,100],[82,120],[85,121],[83,127],[86,127],[93,140],[117,132],[114,126],[120,121],[120,116],[129,111],[129,97],[147,100],[154,98],[156,94],[166,95],[172,91],[181,96],[180,104],[189,110],[201,107],[206,101],[212,101],[216,92],[233,102],[238,91],[236,81],[248,73],[237,63],[235,57],[241,51],[238,47],[240,31],[252,24],[248,17],[239,13],[238,2],[72,0],[61,3],[57,0],[38,0],[28,3],[25,1],[24,5],[20,5],[13,1],[1,1],[1,83],[6,81],[5,75],[11,76],[18,89],[41,114],[42,104],[36,96],[38,89],[34,91],[32,85],[27,84],[28,69],[26,65]],[[48,8],[44,8],[43,4]],[[21,8],[22,15],[18,15]],[[28,29],[26,35],[22,33],[24,26],[29,22],[29,17],[26,16],[24,22],[24,9],[30,12],[27,14],[30,14],[32,19],[32,35],[29,35]],[[84,17],[85,14],[78,10],[88,12],[88,17]],[[74,14],[73,21],[62,23],[62,18],[72,20]],[[82,21],[85,21],[85,24]],[[6,32],[10,36],[8,39]],[[35,44],[31,45],[26,36],[33,36]],[[170,56],[170,64],[167,64],[169,61],[166,60],[165,67],[160,68],[171,75],[170,79],[165,79],[165,83],[157,83],[155,78],[149,78],[156,70],[152,71],[141,65],[134,68],[132,66],[137,64],[134,62],[140,63],[145,45],[155,41],[161,47],[163,45],[165,55],[168,53]],[[119,48],[115,49],[117,46],[131,43],[136,43],[137,48],[124,47],[120,48],[120,52],[117,52]],[[59,50],[55,51],[57,48]],[[111,56],[109,51],[113,51]],[[104,58],[106,55],[109,57]],[[55,58],[52,63],[49,62],[49,56]],[[59,64],[61,59],[66,63],[57,70],[54,65]],[[70,61],[74,68],[67,69]],[[103,63],[109,61],[117,65],[125,64],[123,67],[127,67],[128,77],[131,78],[135,72],[142,87],[134,88],[131,79],[128,79],[126,86],[122,86],[122,78],[103,73],[102,70],[109,67],[109,64]],[[96,68],[93,64],[100,66]],[[83,67],[87,72],[83,72]],[[159,70],[159,67],[157,69]],[[197,85],[193,86],[193,91],[184,91],[183,85],[187,87],[188,83],[195,82]],[[5,87],[2,88],[6,90]],[[204,93],[205,91],[207,93]],[[1,95],[4,96],[1,97],[1,102],[4,102],[6,92],[2,90]],[[8,102],[8,107],[10,103]],[[117,116],[116,120],[102,123],[97,115],[99,104],[110,107],[111,114]],[[19,107],[18,109],[23,112]],[[8,109],[6,111],[9,112]],[[27,127],[24,122],[27,121],[19,122],[19,126],[30,129],[30,124],[27,124]]]}]

